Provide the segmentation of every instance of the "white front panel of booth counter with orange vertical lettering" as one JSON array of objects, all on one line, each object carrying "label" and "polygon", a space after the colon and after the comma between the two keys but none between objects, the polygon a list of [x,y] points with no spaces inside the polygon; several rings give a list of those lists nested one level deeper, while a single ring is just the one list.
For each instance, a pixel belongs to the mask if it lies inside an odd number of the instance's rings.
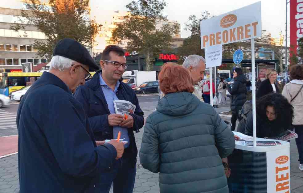
[{"label": "white front panel of booth counter with orange vertical lettering", "polygon": [[289,149],[267,152],[267,192],[290,192]]}]

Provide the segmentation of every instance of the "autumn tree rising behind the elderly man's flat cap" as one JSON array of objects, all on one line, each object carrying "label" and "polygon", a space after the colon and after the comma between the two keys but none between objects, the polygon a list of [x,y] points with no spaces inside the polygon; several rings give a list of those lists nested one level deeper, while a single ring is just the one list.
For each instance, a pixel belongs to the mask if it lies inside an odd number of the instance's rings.
[{"label": "autumn tree rising behind the elderly man's flat cap", "polygon": [[74,39],[89,48],[96,43],[95,38],[101,25],[89,18],[89,0],[49,0],[47,5],[40,0],[28,0],[25,6],[26,9],[21,10],[19,22],[10,29],[18,31],[34,26],[43,32],[46,40],[34,42],[40,57],[49,60],[55,45],[63,38]]}]

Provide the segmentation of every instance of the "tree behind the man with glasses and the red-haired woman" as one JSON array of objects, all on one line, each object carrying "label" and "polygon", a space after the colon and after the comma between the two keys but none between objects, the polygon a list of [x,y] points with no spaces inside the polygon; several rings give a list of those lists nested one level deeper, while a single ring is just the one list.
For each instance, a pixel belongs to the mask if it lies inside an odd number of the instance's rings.
[{"label": "tree behind the man with glasses and the red-haired woman", "polygon": [[[153,70],[152,59],[162,51],[171,50],[172,36],[178,33],[179,24],[167,23],[163,15],[166,2],[163,0],[136,0],[126,7],[129,15],[123,23],[117,24],[112,32],[112,41],[127,40],[129,52],[138,52],[146,57],[146,70]],[[162,23],[161,27],[157,27]]]}]

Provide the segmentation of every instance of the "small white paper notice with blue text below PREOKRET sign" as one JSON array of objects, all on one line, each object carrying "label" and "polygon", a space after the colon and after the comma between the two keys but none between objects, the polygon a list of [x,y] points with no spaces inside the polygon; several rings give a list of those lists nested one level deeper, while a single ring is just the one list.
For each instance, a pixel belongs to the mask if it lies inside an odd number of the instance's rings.
[{"label": "small white paper notice with blue text below PREOKRET sign", "polygon": [[221,66],[222,64],[222,44],[205,48],[206,68]]}]

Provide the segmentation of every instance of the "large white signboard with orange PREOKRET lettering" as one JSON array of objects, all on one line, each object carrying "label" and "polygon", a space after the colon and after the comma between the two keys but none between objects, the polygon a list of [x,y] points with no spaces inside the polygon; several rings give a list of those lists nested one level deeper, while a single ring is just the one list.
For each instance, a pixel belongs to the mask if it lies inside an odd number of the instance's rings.
[{"label": "large white signboard with orange PREOKRET lettering", "polygon": [[201,49],[260,37],[261,2],[201,21]]}]

